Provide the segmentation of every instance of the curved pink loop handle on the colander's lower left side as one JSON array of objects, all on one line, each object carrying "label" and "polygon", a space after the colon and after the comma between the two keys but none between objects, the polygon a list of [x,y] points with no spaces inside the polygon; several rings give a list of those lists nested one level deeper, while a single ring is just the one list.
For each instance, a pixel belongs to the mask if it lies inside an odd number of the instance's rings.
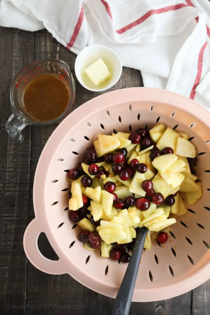
[{"label": "curved pink loop handle on the colander's lower left side", "polygon": [[66,273],[66,270],[64,269],[65,264],[62,263],[60,258],[57,261],[50,260],[44,257],[40,252],[37,240],[41,232],[45,231],[43,231],[40,221],[38,221],[36,218],[32,220],[26,228],[23,237],[23,247],[28,260],[32,265],[43,272],[49,274]]}]

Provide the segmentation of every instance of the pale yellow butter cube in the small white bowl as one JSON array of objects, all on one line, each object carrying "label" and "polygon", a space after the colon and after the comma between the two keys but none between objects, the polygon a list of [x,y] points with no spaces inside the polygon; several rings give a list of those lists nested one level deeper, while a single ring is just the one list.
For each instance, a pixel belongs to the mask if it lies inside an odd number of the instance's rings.
[{"label": "pale yellow butter cube in the small white bowl", "polygon": [[111,75],[108,67],[101,58],[85,69],[85,73],[95,86],[98,86],[100,83],[104,82]]}]

